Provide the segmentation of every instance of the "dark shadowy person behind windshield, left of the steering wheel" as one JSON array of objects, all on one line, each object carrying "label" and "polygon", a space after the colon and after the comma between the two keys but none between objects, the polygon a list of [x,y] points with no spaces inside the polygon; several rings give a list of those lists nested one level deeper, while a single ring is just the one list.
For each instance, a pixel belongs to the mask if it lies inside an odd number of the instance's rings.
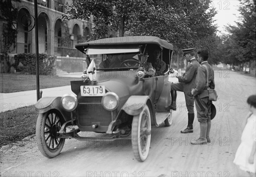
[{"label": "dark shadowy person behind windshield, left of the steering wheel", "polygon": [[121,54],[108,54],[108,58],[99,64],[99,68],[118,68],[121,64],[121,61]]}]

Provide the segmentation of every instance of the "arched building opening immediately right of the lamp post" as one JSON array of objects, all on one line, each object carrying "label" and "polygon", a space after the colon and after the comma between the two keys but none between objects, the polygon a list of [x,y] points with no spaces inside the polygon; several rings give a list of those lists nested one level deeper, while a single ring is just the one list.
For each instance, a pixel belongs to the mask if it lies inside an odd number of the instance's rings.
[{"label": "arched building opening immediately right of the lamp post", "polygon": [[47,14],[42,12],[38,16],[38,48],[39,53],[50,53],[50,46],[48,39],[48,29],[49,29],[49,18]]}]

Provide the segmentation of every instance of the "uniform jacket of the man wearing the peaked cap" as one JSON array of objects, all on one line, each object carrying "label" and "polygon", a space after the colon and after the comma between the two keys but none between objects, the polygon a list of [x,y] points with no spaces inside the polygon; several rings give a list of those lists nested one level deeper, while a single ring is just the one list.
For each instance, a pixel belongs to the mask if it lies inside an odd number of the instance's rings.
[{"label": "uniform jacket of the man wearing the peaked cap", "polygon": [[195,79],[200,64],[194,58],[190,60],[186,68],[184,76],[177,77],[180,83],[184,83],[183,92],[191,92],[192,88],[195,88]]}]

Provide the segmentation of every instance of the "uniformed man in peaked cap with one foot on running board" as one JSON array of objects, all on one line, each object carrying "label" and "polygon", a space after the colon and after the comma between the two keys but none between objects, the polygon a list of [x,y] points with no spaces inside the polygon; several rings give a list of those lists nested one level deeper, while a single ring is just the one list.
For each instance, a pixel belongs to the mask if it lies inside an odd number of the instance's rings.
[{"label": "uniformed man in peaked cap with one foot on running board", "polygon": [[195,78],[197,74],[198,67],[200,64],[195,59],[195,51],[194,49],[183,49],[183,55],[185,59],[190,62],[186,68],[186,72],[184,76],[180,76],[179,74],[176,77],[179,80],[179,83],[172,84],[171,88],[171,96],[172,96],[172,105],[168,108],[176,110],[176,91],[183,91],[186,100],[186,108],[188,109],[188,125],[187,127],[180,131],[181,133],[192,133],[193,132],[193,122],[195,118],[194,113],[194,98],[191,94],[191,89],[195,88]]}]

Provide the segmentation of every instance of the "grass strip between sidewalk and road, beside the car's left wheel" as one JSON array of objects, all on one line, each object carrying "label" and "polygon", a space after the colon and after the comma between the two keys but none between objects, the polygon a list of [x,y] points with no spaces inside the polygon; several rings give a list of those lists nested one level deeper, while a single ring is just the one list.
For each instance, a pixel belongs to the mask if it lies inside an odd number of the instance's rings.
[{"label": "grass strip between sidewalk and road, beside the car's left wheel", "polygon": [[38,113],[34,106],[0,113],[0,147],[35,134]]}]

